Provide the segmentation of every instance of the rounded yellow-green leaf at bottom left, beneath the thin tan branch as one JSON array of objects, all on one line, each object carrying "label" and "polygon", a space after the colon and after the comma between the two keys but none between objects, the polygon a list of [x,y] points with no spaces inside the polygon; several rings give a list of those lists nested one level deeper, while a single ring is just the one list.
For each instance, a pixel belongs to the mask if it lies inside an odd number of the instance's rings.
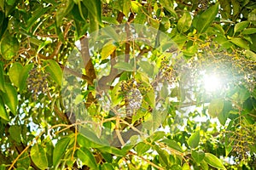
[{"label": "rounded yellow-green leaf at bottom left, beneath the thin tan branch", "polygon": [[47,156],[42,145],[34,144],[30,151],[32,161],[40,169],[46,169],[48,167]]}]

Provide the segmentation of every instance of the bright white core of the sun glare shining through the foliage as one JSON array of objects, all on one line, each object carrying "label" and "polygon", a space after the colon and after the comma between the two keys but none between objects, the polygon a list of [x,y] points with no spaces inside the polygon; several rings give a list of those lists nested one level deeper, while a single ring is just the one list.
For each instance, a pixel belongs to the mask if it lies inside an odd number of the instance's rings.
[{"label": "bright white core of the sun glare shining through the foliage", "polygon": [[216,75],[204,75],[203,81],[207,92],[213,92],[221,88],[220,78]]}]

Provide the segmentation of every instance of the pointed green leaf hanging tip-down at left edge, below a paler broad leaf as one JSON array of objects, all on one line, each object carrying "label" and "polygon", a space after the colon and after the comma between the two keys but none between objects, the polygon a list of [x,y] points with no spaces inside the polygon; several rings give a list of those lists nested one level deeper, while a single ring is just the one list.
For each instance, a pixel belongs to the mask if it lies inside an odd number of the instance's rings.
[{"label": "pointed green leaf hanging tip-down at left edge, below a paler broad leaf", "polygon": [[18,106],[18,94],[15,87],[13,87],[11,84],[5,84],[5,93],[3,93],[3,101],[5,105],[9,107],[9,110],[16,115]]}]

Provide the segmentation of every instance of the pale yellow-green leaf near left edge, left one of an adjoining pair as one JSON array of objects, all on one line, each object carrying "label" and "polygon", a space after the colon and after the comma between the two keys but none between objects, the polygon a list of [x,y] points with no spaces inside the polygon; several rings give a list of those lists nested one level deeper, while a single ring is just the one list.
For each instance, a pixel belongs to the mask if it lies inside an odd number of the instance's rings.
[{"label": "pale yellow-green leaf near left edge, left one of an adjoining pair", "polygon": [[20,62],[15,62],[9,69],[9,79],[17,88],[20,88],[20,72],[22,69],[23,66]]}]

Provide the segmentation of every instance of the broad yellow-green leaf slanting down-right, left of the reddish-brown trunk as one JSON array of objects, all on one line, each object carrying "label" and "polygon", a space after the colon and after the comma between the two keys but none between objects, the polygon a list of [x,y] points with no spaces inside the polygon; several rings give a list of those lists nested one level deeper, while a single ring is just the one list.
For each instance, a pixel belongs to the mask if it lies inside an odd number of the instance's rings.
[{"label": "broad yellow-green leaf slanting down-right, left of the reddish-brown trunk", "polygon": [[53,59],[45,60],[44,65],[47,65],[45,71],[49,72],[50,77],[61,86],[63,72],[60,65]]}]

